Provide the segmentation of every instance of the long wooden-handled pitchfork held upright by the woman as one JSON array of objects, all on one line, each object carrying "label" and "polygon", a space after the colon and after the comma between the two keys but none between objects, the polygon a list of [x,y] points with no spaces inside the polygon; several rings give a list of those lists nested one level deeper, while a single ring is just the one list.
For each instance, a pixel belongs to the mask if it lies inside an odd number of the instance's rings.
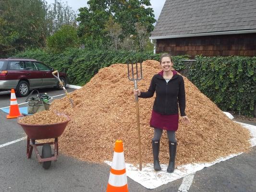
[{"label": "long wooden-handled pitchfork held upright by the woman", "polygon": [[[129,69],[129,65],[131,65],[131,73],[130,74],[130,69]],[[136,69],[136,73],[134,74],[134,65],[135,65],[135,69]],[[142,79],[142,63],[140,62],[140,66],[139,66],[139,71],[138,71],[138,63],[129,63],[127,62],[127,67],[128,67],[128,79],[130,81],[134,82],[134,89],[137,89],[137,81],[140,81]],[[140,73],[140,75],[138,75],[138,73]],[[139,115],[139,100],[138,100],[138,96],[135,95],[135,107],[136,107],[136,116],[137,116],[137,131],[138,131],[138,143],[139,143],[139,168],[140,171],[142,169],[142,163],[141,163],[141,142],[140,142],[140,115]]]}]

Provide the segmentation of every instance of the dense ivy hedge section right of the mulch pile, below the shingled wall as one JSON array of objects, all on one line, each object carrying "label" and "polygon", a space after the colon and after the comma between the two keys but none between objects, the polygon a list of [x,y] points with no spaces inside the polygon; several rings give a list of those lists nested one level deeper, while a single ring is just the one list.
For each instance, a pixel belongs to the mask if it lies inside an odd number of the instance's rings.
[{"label": "dense ivy hedge section right of the mulch pile, below the shingled wall", "polygon": [[256,57],[195,57],[189,79],[223,111],[253,116]]}]

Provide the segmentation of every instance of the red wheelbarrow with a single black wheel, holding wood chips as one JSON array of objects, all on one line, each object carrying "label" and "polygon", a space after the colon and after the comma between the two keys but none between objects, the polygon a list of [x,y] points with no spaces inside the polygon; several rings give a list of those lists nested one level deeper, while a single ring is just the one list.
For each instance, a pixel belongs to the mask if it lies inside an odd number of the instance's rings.
[{"label": "red wheelbarrow with a single black wheel, holding wood chips", "polygon": [[[51,161],[57,161],[59,156],[58,137],[61,136],[68,122],[70,121],[69,117],[65,114],[57,113],[57,115],[63,115],[67,118],[67,120],[60,123],[45,125],[24,124],[17,121],[18,124],[20,124],[23,128],[24,132],[27,134],[27,158],[31,157],[32,151],[34,149],[38,162],[43,163],[43,168],[45,169],[50,168]],[[19,118],[22,118],[22,116]],[[36,143],[36,140],[40,139],[54,139],[54,142]],[[54,145],[54,154],[52,154],[51,145]],[[41,156],[38,152],[37,146],[43,146]]]}]

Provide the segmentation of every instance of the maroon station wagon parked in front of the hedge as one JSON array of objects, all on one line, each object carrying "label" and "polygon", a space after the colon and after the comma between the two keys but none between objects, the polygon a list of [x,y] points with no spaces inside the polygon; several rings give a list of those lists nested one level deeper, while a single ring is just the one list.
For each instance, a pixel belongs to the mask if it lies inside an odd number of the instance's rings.
[{"label": "maroon station wagon parked in front of the hedge", "polygon": [[[0,59],[0,91],[15,89],[17,96],[27,96],[32,89],[61,89],[58,80],[52,75],[53,71],[53,68],[34,59]],[[65,86],[67,75],[63,72],[59,72],[59,75]]]}]

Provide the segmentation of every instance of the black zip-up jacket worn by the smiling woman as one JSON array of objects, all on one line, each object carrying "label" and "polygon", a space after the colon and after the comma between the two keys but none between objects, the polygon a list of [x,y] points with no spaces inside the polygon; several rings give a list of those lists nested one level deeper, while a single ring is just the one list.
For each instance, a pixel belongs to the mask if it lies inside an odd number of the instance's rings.
[{"label": "black zip-up jacket worn by the smiling woman", "polygon": [[174,74],[171,80],[166,83],[161,75],[161,72],[155,74],[151,79],[150,86],[147,92],[141,92],[139,97],[149,98],[154,95],[156,98],[153,105],[153,110],[162,115],[178,114],[178,103],[181,116],[185,116],[185,88],[183,77],[179,74]]}]

